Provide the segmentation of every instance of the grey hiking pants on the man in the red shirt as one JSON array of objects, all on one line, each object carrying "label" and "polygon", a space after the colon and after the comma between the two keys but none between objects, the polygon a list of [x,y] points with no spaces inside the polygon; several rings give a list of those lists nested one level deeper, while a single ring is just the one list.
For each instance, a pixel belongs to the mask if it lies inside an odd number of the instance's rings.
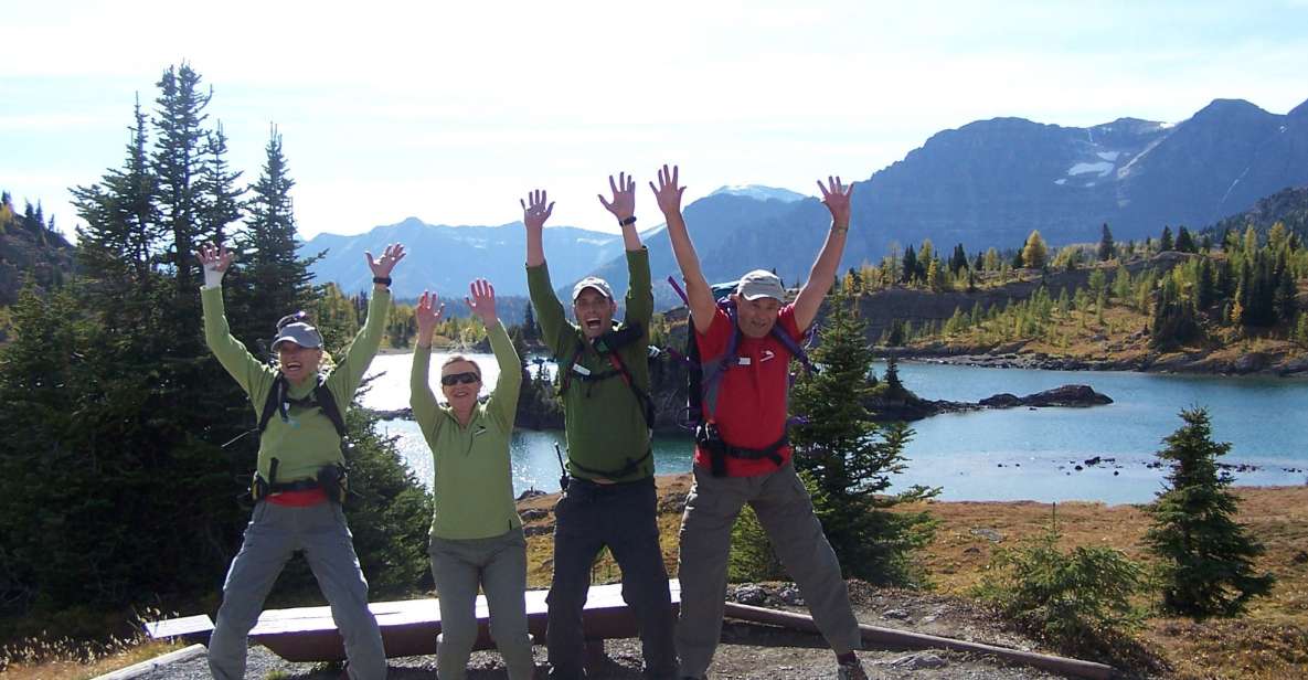
[{"label": "grey hiking pants on the man in the red shirt", "polygon": [[681,515],[681,615],[676,628],[681,676],[702,677],[713,660],[722,634],[731,527],[744,503],[753,507],[832,650],[844,654],[859,649],[858,620],[840,562],[794,464],[786,462],[776,472],[753,477],[714,477],[696,466]]}]

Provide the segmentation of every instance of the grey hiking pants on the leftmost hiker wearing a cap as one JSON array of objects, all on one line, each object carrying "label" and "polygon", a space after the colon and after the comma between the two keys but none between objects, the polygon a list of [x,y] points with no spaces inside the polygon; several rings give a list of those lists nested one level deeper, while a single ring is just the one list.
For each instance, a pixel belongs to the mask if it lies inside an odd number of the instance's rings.
[{"label": "grey hiking pants on the leftmost hiker wearing a cap", "polygon": [[377,619],[368,609],[368,581],[340,505],[288,507],[262,501],[254,507],[241,552],[222,586],[222,607],[209,638],[209,672],[218,680],[245,677],[250,629],[263,600],[294,551],[303,551],[331,617],[345,642],[349,677],[386,677],[386,651]]}]

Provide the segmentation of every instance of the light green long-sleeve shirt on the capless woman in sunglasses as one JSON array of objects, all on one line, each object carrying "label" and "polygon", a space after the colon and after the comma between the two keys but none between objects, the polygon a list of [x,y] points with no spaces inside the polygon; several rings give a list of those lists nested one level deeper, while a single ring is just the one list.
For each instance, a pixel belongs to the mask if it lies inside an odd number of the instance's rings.
[{"label": "light green long-sleeve shirt on the capless woman in sunglasses", "polygon": [[490,398],[473,408],[467,426],[459,425],[454,409],[437,404],[432,394],[428,383],[432,348],[413,350],[409,405],[432,447],[436,471],[432,536],[438,539],[488,539],[522,526],[513,501],[509,464],[522,364],[504,324],[496,323],[487,335],[500,365],[500,378]]}]

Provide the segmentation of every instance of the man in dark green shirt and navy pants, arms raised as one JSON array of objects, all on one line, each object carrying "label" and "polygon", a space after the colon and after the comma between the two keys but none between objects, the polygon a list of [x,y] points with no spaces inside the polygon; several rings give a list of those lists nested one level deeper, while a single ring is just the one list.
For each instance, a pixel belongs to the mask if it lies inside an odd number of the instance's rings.
[{"label": "man in dark green shirt and navy pants, arms raised", "polygon": [[636,183],[625,173],[608,178],[627,247],[630,286],[627,315],[613,323],[617,303],[602,279],[573,288],[577,324],[555,297],[542,231],[553,211],[544,191],[522,201],[527,229],[527,286],[542,335],[559,364],[568,434],[570,481],[555,507],[555,574],[549,586],[549,677],[586,677],[582,663],[582,605],[595,556],[608,547],[623,570],[623,598],[641,629],[646,677],[675,677],[672,605],[659,548],[650,449],[649,324],[654,314],[649,252],[636,231]]}]

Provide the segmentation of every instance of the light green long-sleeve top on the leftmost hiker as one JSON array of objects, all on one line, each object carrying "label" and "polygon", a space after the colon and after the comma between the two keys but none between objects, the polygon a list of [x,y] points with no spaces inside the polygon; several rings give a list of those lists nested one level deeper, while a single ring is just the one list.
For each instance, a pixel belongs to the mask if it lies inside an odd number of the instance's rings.
[{"label": "light green long-sleeve top on the leftmost hiker", "polygon": [[[218,358],[218,364],[237,379],[241,388],[250,395],[250,405],[255,417],[263,413],[263,404],[272,391],[277,369],[255,358],[246,347],[232,337],[228,318],[224,314],[222,288],[201,288],[200,301],[204,307],[204,341]],[[368,303],[368,322],[354,336],[344,360],[339,361],[327,375],[327,388],[331,390],[341,415],[354,399],[354,390],[364,379],[368,365],[373,362],[377,348],[382,343],[386,327],[386,314],[390,310],[390,290],[378,290]],[[303,399],[314,390],[313,381],[305,384],[292,384],[290,396]],[[331,420],[317,407],[292,405],[288,420],[273,416],[268,428],[259,437],[258,471],[263,479],[276,483],[311,480],[318,477],[318,469],[324,466],[344,463],[340,452],[340,435]],[[277,459],[277,479],[271,480],[272,459]]]}]

